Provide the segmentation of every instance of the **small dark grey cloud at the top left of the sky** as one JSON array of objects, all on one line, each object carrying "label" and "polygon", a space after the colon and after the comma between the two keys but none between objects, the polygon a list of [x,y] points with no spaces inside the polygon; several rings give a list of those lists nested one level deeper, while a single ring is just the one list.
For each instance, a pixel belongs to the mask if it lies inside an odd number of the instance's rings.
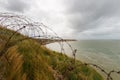
[{"label": "small dark grey cloud at the top left of the sky", "polygon": [[7,4],[4,7],[9,11],[24,12],[30,8],[30,5],[26,0],[7,0]]}]

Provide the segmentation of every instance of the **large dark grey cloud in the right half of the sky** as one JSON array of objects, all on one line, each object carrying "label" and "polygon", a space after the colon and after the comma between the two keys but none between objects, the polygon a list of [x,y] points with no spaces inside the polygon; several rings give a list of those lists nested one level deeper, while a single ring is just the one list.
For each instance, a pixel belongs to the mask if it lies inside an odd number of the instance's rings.
[{"label": "large dark grey cloud in the right half of the sky", "polygon": [[65,5],[69,23],[77,32],[100,27],[105,20],[120,17],[120,0],[67,0]]}]

